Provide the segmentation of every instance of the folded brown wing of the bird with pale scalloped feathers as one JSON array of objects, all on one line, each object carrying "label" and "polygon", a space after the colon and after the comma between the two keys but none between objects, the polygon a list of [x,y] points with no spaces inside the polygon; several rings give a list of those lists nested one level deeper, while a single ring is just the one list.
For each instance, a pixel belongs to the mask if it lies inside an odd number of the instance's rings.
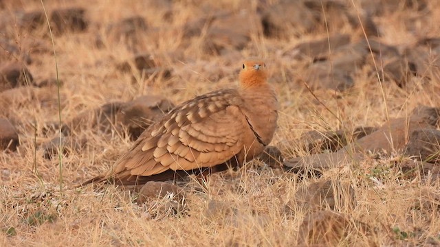
[{"label": "folded brown wing of the bird with pale scalloped feathers", "polygon": [[243,150],[247,124],[241,104],[234,90],[215,91],[180,104],[142,133],[106,178],[133,180],[230,160]]}]

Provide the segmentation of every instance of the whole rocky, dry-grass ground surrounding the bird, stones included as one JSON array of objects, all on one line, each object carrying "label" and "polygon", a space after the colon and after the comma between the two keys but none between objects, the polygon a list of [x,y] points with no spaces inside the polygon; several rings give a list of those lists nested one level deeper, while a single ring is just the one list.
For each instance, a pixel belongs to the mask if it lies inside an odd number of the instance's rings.
[{"label": "whole rocky, dry-grass ground surrounding the bird, stones included", "polygon": [[[440,3],[0,0],[2,246],[439,246]],[[239,171],[75,187],[265,58]]]}]

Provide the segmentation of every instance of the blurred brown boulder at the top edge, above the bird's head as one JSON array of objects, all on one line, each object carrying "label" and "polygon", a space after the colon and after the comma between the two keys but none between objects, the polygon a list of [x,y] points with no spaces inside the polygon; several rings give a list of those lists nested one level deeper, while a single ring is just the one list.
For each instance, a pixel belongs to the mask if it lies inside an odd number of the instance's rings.
[{"label": "blurred brown boulder at the top edge, above the bird's head", "polygon": [[263,34],[268,38],[289,38],[316,28],[316,16],[302,1],[281,1],[261,14]]}]

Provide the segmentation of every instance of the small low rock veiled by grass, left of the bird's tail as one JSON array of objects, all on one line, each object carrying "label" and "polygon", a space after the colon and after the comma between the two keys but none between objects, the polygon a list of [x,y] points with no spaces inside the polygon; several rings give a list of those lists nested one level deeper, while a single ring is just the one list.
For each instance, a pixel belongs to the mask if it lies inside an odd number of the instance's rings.
[{"label": "small low rock veiled by grass, left of the bird's tail", "polygon": [[81,148],[84,148],[87,144],[87,139],[76,139],[74,137],[54,137],[54,139],[47,141],[41,145],[43,149],[43,156],[47,159],[58,158],[58,150],[62,148],[64,155],[72,154],[72,152],[78,152]]}]

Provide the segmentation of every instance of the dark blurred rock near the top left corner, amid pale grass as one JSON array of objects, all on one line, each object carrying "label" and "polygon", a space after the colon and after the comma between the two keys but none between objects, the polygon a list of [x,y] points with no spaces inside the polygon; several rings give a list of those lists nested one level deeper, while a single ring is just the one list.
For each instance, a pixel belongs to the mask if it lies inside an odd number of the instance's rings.
[{"label": "dark blurred rock near the top left corner, amid pale grass", "polygon": [[85,9],[66,8],[54,10],[50,16],[52,30],[56,34],[66,31],[82,32],[87,29],[88,22],[85,19]]}]

